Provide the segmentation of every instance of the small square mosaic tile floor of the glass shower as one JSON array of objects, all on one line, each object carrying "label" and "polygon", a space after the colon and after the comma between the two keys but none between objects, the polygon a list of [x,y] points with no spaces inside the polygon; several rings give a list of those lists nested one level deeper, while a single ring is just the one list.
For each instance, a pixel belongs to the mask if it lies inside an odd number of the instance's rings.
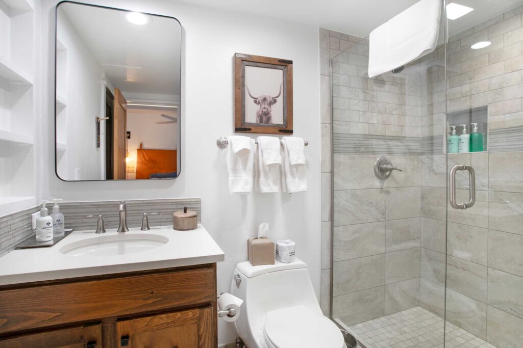
[{"label": "small square mosaic tile floor of the glass shower", "polygon": [[[444,347],[443,319],[422,307],[414,307],[388,316],[347,327],[367,348]],[[496,348],[447,321],[446,348]]]}]

